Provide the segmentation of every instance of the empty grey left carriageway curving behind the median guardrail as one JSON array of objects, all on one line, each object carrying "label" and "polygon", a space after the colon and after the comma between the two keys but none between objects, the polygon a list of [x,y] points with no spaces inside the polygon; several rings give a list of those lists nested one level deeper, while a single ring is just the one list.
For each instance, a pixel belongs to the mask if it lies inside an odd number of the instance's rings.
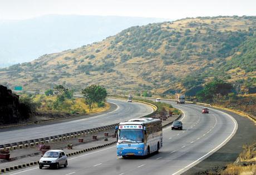
[{"label": "empty grey left carriageway curving behind the median guardrail", "polygon": [[99,116],[43,126],[24,126],[12,131],[1,132],[0,130],[0,144],[27,141],[29,139],[50,137],[58,134],[106,126],[127,119],[141,117],[153,111],[150,106],[143,103],[127,103],[120,99],[107,99],[107,101],[116,104],[117,108],[112,112],[100,114]]}]

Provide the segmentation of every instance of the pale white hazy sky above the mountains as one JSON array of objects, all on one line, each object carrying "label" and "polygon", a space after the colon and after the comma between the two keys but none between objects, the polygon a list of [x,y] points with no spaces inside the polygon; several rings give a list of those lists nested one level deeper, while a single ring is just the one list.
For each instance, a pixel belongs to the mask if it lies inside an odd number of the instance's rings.
[{"label": "pale white hazy sky above the mountains", "polygon": [[45,14],[169,19],[255,16],[256,0],[0,0],[0,19],[26,19]]}]

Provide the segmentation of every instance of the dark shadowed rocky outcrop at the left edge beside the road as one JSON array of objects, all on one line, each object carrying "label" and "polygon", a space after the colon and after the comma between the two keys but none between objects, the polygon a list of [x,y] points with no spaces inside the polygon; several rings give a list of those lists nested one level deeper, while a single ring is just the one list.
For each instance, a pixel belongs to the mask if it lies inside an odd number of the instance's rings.
[{"label": "dark shadowed rocky outcrop at the left edge beside the road", "polygon": [[30,114],[24,104],[19,103],[19,96],[7,87],[0,85],[0,125],[18,123]]}]

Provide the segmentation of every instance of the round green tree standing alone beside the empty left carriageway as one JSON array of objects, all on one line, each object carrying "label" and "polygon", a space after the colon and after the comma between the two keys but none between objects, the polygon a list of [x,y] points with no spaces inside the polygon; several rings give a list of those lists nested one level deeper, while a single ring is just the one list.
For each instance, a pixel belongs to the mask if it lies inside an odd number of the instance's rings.
[{"label": "round green tree standing alone beside the empty left carriageway", "polygon": [[92,84],[85,89],[82,89],[82,94],[85,97],[85,102],[89,106],[89,111],[92,112],[94,104],[100,104],[106,101],[107,91],[104,87]]}]

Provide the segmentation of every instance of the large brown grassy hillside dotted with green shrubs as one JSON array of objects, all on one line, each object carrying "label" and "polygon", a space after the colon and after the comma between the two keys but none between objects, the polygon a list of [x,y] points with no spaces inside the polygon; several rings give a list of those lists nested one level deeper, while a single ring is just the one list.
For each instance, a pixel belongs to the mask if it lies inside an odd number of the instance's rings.
[{"label": "large brown grassy hillside dotted with green shrubs", "polygon": [[[200,17],[131,27],[104,41],[0,70],[0,83],[24,89],[92,83],[109,92],[193,94],[214,77],[241,93],[256,86],[256,17]],[[114,91],[115,92],[115,91]]]}]

